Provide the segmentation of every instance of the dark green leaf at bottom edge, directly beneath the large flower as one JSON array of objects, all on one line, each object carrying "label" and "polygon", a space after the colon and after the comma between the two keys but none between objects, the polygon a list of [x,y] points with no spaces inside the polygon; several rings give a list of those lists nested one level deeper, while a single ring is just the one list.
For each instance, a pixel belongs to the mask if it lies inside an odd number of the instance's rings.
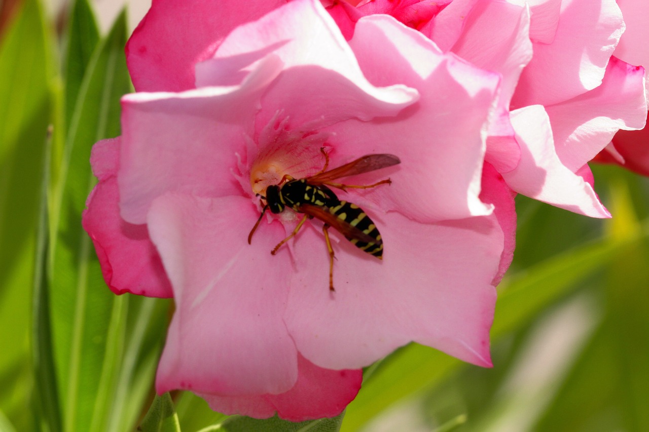
[{"label": "dark green leaf at bottom edge, directly beneath the large flower", "polygon": [[201,429],[200,432],[337,432],[343,422],[343,412],[333,418],[320,418],[308,422],[293,423],[277,417],[259,420],[244,416],[232,416],[217,426]]}]

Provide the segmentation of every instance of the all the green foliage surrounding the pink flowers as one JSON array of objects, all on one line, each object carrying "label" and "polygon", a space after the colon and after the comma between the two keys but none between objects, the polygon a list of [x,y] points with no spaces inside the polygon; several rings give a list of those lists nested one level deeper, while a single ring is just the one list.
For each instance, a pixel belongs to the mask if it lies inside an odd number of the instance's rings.
[{"label": "all the green foliage surrounding the pink flowers", "polygon": [[517,198],[494,368],[410,344],[344,417],[305,424],[154,399],[170,303],[110,293],[80,226],[90,149],[132,91],[125,16],[101,36],[78,0],[66,22],[25,0],[0,40],[0,432],[649,431],[649,182],[611,166],[593,167],[611,220]]}]

